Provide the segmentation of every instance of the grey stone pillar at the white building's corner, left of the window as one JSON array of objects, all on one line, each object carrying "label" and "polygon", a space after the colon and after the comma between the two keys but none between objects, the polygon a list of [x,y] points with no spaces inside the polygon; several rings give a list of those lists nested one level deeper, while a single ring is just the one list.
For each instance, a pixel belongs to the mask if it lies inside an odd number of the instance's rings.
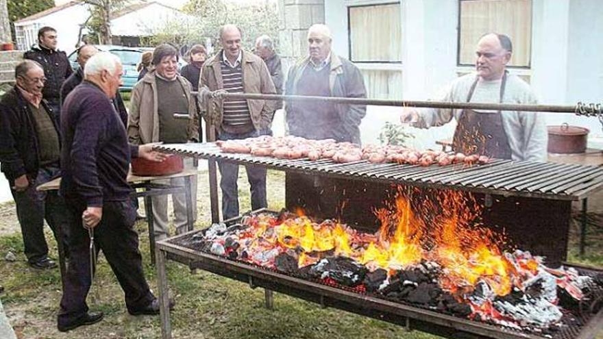
[{"label": "grey stone pillar at the white building's corner, left of the window", "polygon": [[308,53],[306,34],[315,23],[325,23],[325,0],[278,0],[279,53],[285,70]]}]

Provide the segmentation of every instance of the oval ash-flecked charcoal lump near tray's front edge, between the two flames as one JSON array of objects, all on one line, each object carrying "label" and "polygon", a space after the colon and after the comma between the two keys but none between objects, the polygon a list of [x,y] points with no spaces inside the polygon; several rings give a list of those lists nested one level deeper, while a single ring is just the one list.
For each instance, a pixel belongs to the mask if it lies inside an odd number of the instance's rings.
[{"label": "oval ash-flecked charcoal lump near tray's front edge, between the two flames", "polygon": [[312,275],[321,279],[331,278],[344,286],[358,286],[365,279],[367,268],[347,257],[330,257],[318,262],[310,269]]}]

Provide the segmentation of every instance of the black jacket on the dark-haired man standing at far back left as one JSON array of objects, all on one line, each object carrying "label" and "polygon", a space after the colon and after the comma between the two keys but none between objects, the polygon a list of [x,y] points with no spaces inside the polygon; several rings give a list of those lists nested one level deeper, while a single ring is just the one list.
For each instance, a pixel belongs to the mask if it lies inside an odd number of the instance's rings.
[{"label": "black jacket on the dark-haired man standing at far back left", "polygon": [[47,79],[42,96],[47,101],[59,103],[61,86],[73,73],[65,52],[34,45],[31,50],[25,52],[23,58],[34,60],[42,65]]}]

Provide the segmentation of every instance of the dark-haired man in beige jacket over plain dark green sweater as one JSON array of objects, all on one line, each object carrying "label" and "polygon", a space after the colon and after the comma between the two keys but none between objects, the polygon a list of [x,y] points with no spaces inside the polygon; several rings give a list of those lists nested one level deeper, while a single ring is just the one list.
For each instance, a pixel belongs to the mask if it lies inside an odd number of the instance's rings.
[{"label": "dark-haired man in beige jacket over plain dark green sweater", "polygon": [[[127,136],[133,144],[149,142],[198,142],[198,114],[192,86],[177,73],[177,51],[170,45],[160,45],[153,51],[154,71],[140,79],[132,90],[132,102],[127,123]],[[179,120],[174,114],[188,114],[190,119]],[[193,168],[193,159],[184,160],[185,168]],[[157,180],[158,184],[184,185],[184,178]],[[191,179],[193,222],[197,218],[197,176]],[[173,194],[176,232],[186,230],[186,199],[184,194]],[[167,238],[167,196],[153,197],[155,236]]]}]

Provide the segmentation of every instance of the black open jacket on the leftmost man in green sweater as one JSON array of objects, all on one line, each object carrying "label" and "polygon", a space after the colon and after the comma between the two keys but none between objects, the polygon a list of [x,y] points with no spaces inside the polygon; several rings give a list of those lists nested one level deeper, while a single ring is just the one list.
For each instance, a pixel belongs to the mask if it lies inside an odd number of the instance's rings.
[{"label": "black open jacket on the leftmost man in green sweater", "polygon": [[[52,109],[44,99],[41,104],[60,136]],[[38,176],[38,145],[38,131],[32,111],[15,86],[0,99],[0,168],[11,186],[14,179],[21,175],[27,174],[29,181]]]}]

